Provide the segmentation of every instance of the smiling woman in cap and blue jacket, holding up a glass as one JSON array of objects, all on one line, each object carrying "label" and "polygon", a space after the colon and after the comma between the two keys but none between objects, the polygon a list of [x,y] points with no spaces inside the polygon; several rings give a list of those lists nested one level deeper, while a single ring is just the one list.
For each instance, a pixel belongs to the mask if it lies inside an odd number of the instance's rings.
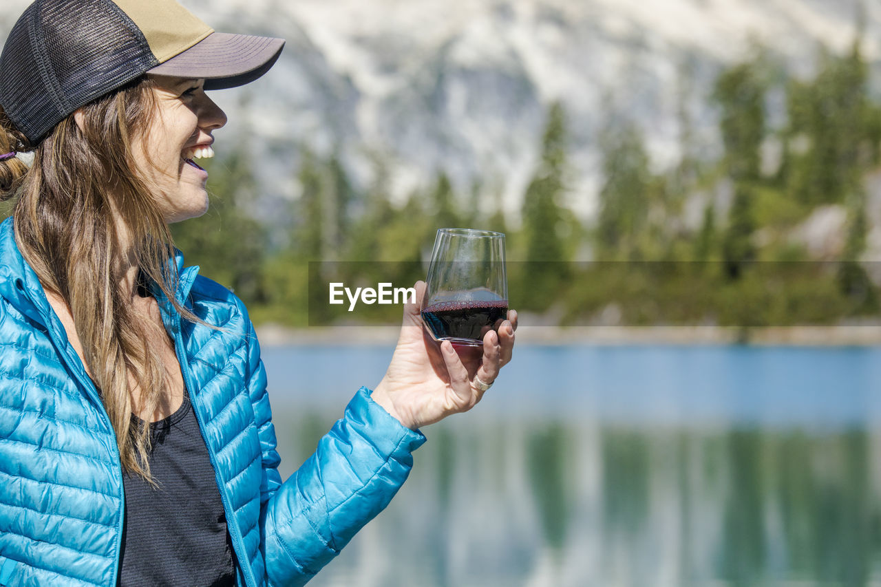
[{"label": "smiling woman in cap and blue jacket, holding up a glass", "polygon": [[281,482],[247,312],[183,268],[168,224],[207,208],[194,159],[226,116],[205,90],[282,45],[174,0],[37,0],[7,39],[0,585],[306,583],[396,493],[418,428],[510,360],[513,313],[461,359],[406,306],[386,375]]}]

